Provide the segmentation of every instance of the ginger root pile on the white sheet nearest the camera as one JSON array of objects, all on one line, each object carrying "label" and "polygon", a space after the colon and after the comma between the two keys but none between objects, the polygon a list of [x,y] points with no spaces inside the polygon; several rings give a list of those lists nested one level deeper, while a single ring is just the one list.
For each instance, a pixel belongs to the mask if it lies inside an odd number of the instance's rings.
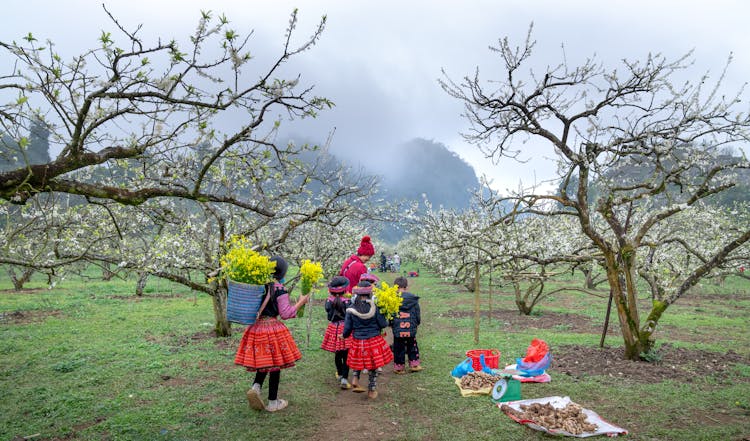
[{"label": "ginger root pile on the white sheet nearest the camera", "polygon": [[522,404],[520,407],[522,412],[507,404],[503,404],[500,408],[506,413],[512,413],[520,419],[531,420],[547,429],[562,429],[573,435],[593,432],[599,427],[588,422],[583,408],[575,403],[569,403],[562,409],[556,409],[549,403]]}]

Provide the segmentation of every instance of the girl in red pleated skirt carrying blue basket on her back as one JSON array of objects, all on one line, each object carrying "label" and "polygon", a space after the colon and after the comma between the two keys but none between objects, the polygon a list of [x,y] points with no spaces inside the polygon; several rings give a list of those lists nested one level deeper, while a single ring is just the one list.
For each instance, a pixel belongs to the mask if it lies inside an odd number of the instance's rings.
[{"label": "girl in red pleated skirt carrying blue basket on her back", "polygon": [[[289,329],[282,323],[297,316],[297,309],[307,303],[310,296],[300,296],[297,303],[289,302],[289,293],[280,282],[286,275],[288,265],[279,257],[271,257],[276,262],[274,279],[278,282],[269,284],[258,314],[258,320],[247,327],[242,335],[240,346],[234,363],[250,372],[255,372],[255,381],[252,388],[247,391],[247,400],[250,407],[256,410],[268,410],[276,412],[284,409],[288,403],[278,398],[279,382],[281,380],[281,369],[294,366],[294,363],[302,358],[297,344],[292,338]],[[268,381],[268,406],[263,404],[260,390],[263,382]]]}]

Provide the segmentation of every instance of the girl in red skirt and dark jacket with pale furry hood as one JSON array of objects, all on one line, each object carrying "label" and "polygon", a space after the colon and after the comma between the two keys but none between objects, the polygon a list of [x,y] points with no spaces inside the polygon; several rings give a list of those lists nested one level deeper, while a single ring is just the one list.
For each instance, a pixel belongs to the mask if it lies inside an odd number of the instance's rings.
[{"label": "girl in red skirt and dark jacket with pale furry hood", "polygon": [[367,396],[376,398],[378,368],[393,361],[393,352],[382,336],[382,330],[388,327],[388,321],[378,311],[372,300],[372,284],[361,281],[352,290],[356,300],[346,309],[344,333],[341,338],[352,335],[347,364],[354,370],[352,386],[354,392],[364,392],[359,384],[363,369],[368,370]]}]

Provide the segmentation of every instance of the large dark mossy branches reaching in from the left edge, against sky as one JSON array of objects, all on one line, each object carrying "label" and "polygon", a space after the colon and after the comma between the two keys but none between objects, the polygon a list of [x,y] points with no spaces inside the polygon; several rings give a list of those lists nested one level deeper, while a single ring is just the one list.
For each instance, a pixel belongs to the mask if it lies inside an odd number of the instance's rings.
[{"label": "large dark mossy branches reaching in from the left edge, against sky", "polygon": [[23,148],[32,125],[41,121],[50,148],[60,151],[49,162],[21,163],[0,173],[0,198],[22,204],[39,193],[65,192],[137,205],[180,197],[271,214],[252,194],[219,193],[212,183],[231,165],[222,160],[240,166],[283,153],[258,148],[272,147],[269,133],[281,123],[281,113],[313,117],[332,106],[299,77],[279,76],[285,63],[317,42],[325,17],[295,44],[294,11],[281,54],[270,66],[254,63],[250,35],[241,36],[225,17],[210,12],[202,13],[188,48],[176,40],[149,44],[138,36],[140,27],[128,31],[112,21],[118,37],[103,31],[100,47],[71,60],[31,33],[21,43],[0,42],[12,60],[0,75],[0,130]]}]

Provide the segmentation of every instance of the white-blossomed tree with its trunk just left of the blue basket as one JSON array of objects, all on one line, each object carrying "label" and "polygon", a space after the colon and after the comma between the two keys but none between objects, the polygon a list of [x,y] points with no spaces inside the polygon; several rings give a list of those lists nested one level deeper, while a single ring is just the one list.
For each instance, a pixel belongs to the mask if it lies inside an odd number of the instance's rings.
[{"label": "white-blossomed tree with its trunk just left of the blue basket", "polygon": [[[269,170],[277,166],[269,165]],[[74,270],[71,263],[109,264],[113,271],[168,279],[210,295],[217,334],[228,335],[226,286],[210,279],[231,235],[243,234],[261,252],[280,253],[291,263],[307,258],[330,267],[341,259],[340,254],[334,256],[336,247],[346,244],[339,236],[356,224],[361,211],[353,207],[368,203],[370,190],[349,182],[353,175],[344,169],[327,170],[315,178],[317,173],[315,164],[300,162],[293,170],[284,170],[284,179],[253,186],[266,198],[265,206],[276,213],[273,217],[233,204],[180,198],[155,198],[135,206],[112,200],[58,203],[36,211],[32,209],[41,197],[23,206],[6,203],[0,208],[29,213],[27,217],[33,219],[29,224],[37,225],[46,241],[28,233],[0,236],[7,242],[0,262],[58,274]],[[227,168],[223,178],[231,185],[242,176],[241,168]],[[321,183],[314,194],[307,184],[300,184],[313,178]],[[359,182],[374,188],[373,178],[361,177]],[[52,195],[61,197],[60,193]],[[31,253],[32,249],[36,251]]]}]

